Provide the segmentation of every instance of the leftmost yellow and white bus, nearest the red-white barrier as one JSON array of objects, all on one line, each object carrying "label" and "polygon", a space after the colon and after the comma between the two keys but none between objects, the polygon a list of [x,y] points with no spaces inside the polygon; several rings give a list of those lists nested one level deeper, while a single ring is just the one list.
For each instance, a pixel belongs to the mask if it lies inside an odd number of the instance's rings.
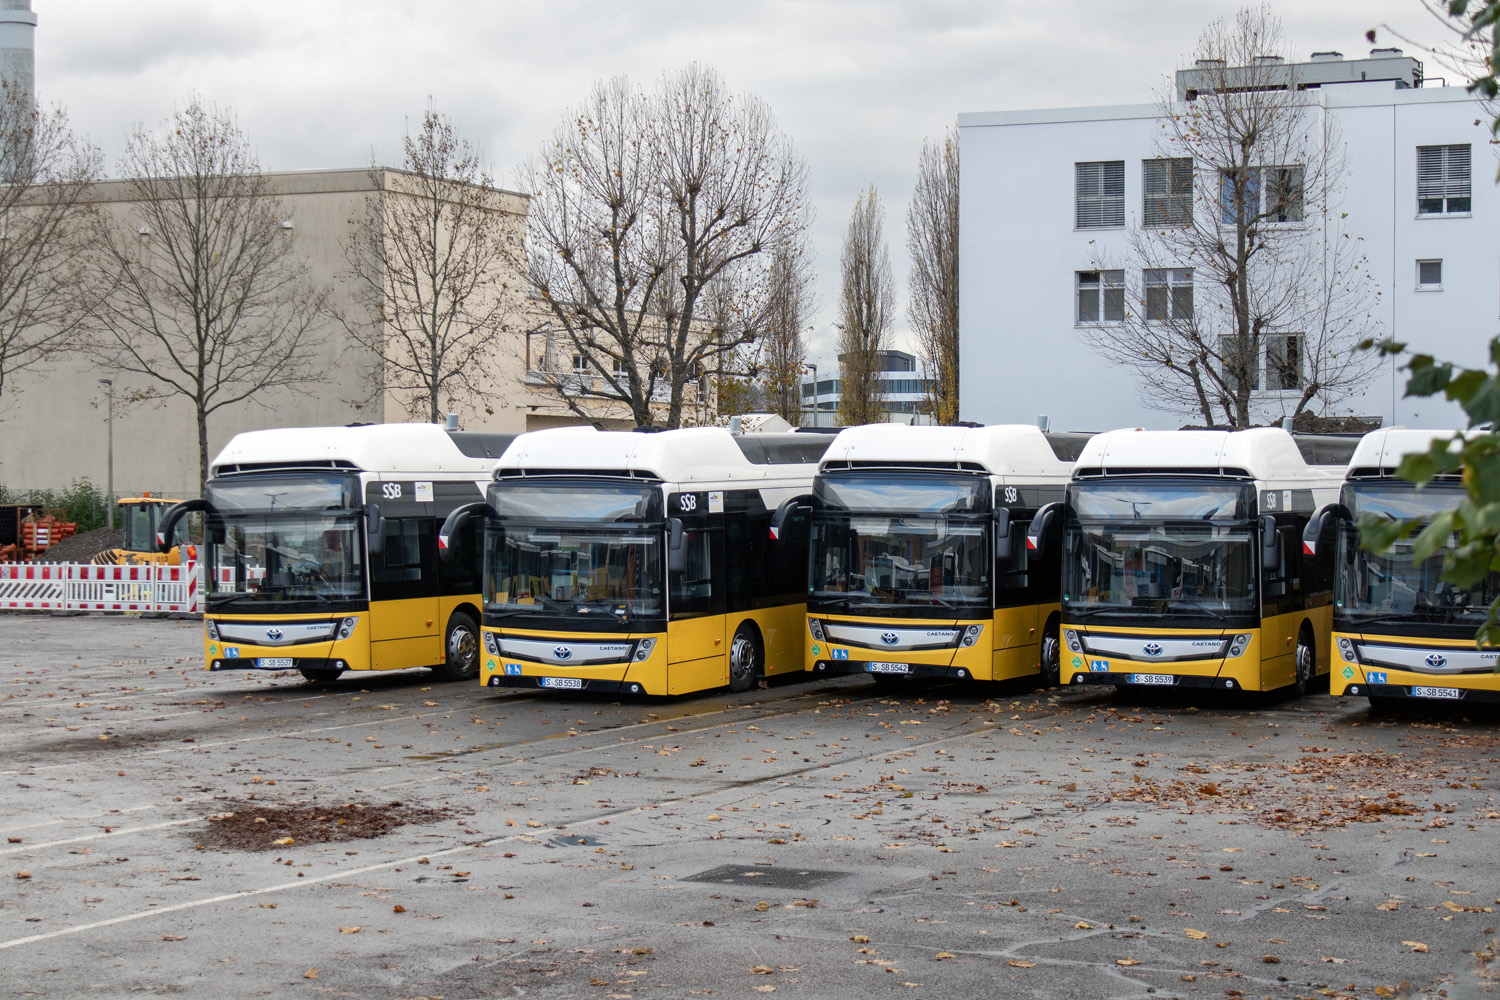
[{"label": "leftmost yellow and white bus, nearest the red-white barrier", "polygon": [[162,525],[170,537],[204,511],[207,669],[477,676],[477,540],[452,540],[459,558],[440,561],[438,526],[483,496],[512,438],[436,424],[236,435],[206,496]]}]

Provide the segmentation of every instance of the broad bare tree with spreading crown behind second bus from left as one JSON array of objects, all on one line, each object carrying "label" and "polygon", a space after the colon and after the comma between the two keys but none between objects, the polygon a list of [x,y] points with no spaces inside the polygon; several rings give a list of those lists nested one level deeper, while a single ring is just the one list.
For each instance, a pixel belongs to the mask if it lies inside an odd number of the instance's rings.
[{"label": "broad bare tree with spreading crown behind second bus from left", "polygon": [[650,424],[664,405],[680,426],[690,384],[759,331],[705,322],[705,294],[734,282],[730,298],[759,316],[774,250],[806,240],[807,166],[790,139],[762,100],[690,64],[651,94],[596,84],[520,175],[531,286],[574,361],[543,379],[588,420],[624,403]]}]

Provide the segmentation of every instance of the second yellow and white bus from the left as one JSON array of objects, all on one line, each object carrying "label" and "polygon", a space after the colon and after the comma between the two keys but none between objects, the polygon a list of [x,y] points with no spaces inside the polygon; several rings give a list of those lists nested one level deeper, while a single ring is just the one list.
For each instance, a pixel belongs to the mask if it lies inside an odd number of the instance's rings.
[{"label": "second yellow and white bus from the left", "polygon": [[484,517],[488,687],[687,694],[801,672],[806,496],[830,436],[717,427],[537,430]]}]

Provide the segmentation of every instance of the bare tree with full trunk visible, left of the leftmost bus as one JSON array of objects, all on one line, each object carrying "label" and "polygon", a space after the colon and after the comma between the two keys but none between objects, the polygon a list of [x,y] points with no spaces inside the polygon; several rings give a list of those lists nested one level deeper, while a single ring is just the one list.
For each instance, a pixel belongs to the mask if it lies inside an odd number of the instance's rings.
[{"label": "bare tree with full trunk visible, left of the leftmost bus", "polygon": [[136,400],[194,405],[206,481],[210,415],[321,378],[321,292],[230,112],[195,96],[154,132],[136,124],[120,165],[123,211],[93,234],[96,360],[136,376]]}]

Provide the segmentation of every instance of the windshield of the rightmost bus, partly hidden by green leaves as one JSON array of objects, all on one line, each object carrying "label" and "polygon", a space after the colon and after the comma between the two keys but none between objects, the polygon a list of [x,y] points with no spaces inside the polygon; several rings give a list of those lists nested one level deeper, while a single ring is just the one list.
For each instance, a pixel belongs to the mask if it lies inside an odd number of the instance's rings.
[{"label": "windshield of the rightmost bus, partly hidden by green leaves", "polygon": [[[1344,490],[1344,502],[1356,522],[1360,514],[1426,522],[1462,498],[1462,487],[1456,483],[1436,483],[1422,490],[1394,483],[1350,484]],[[1359,547],[1359,529],[1354,525],[1341,526],[1336,595],[1340,615],[1354,624],[1376,618],[1472,627],[1484,624],[1491,601],[1500,595],[1500,573],[1488,573],[1468,588],[1448,583],[1442,579],[1442,552],[1422,562],[1412,558],[1414,537],[1413,532],[1388,552],[1374,553]],[[1456,544],[1456,535],[1448,544]]]}]

